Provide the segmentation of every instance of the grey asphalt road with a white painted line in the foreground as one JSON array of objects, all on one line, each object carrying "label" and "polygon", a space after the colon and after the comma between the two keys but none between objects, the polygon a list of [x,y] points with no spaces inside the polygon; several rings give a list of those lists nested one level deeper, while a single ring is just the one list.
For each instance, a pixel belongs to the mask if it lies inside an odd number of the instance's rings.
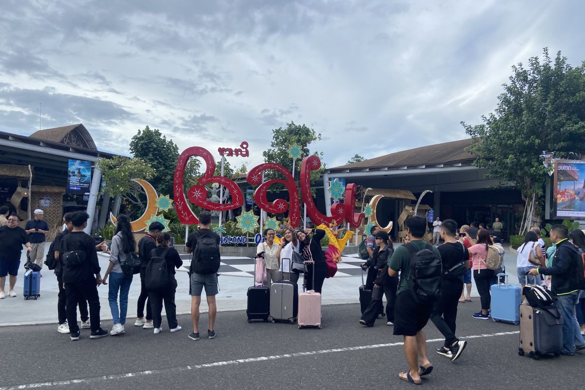
[{"label": "grey asphalt road with a white painted line in the foreground", "polygon": [[[471,317],[479,302],[460,305],[457,334],[468,337],[455,363],[435,353],[442,336],[429,322],[425,332],[435,367],[424,381],[433,389],[581,388],[585,354],[534,361],[519,357],[518,326]],[[0,390],[8,389],[356,389],[409,388],[398,372],[407,367],[402,337],[385,320],[357,323],[359,305],[324,306],[323,329],[288,323],[249,324],[242,311],[221,312],[216,339],[188,339],[183,330],[153,334],[126,327],[123,336],[80,341],[56,325],[0,328]],[[202,320],[207,321],[203,315]],[[111,322],[102,326],[111,328]],[[473,336],[473,337],[470,337]],[[23,386],[19,386],[23,385]]]}]

